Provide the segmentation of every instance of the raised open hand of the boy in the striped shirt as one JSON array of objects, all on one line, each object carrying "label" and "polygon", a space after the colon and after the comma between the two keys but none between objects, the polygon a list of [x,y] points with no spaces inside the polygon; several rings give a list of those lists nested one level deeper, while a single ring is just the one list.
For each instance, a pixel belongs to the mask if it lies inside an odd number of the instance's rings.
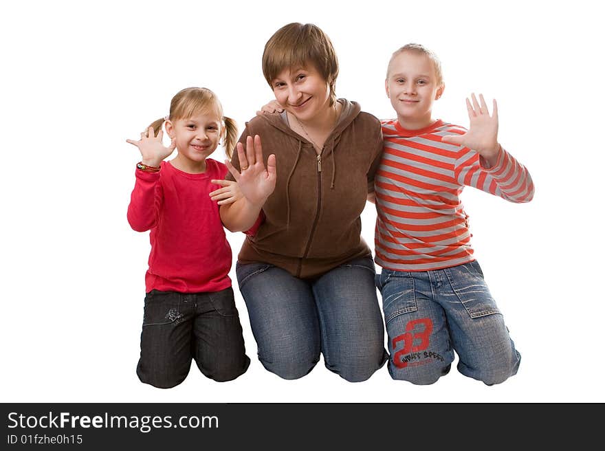
[{"label": "raised open hand of the boy in the striped shirt", "polygon": [[466,99],[466,108],[470,126],[463,135],[443,136],[441,141],[449,144],[468,147],[490,162],[496,162],[500,144],[498,144],[498,105],[494,99],[492,115],[489,115],[487,104],[483,94],[479,94],[479,100],[472,94],[472,104]]}]

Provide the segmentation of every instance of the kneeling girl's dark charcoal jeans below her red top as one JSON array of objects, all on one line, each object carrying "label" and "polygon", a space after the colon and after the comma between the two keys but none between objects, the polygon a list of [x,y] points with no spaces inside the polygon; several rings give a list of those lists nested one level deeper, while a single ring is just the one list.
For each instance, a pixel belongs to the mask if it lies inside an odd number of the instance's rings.
[{"label": "kneeling girl's dark charcoal jeans below her red top", "polygon": [[233,289],[215,293],[160,292],[145,296],[141,382],[170,388],[185,380],[195,360],[217,382],[234,380],[248,369]]}]

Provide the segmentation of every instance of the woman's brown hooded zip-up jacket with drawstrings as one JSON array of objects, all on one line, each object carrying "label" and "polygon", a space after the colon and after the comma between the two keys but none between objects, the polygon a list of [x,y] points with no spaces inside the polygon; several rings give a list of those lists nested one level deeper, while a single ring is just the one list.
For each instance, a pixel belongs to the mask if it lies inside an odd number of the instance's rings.
[{"label": "woman's brown hooded zip-up jacket with drawstrings", "polygon": [[[265,221],[247,236],[241,263],[263,262],[293,276],[312,278],[371,250],[361,238],[360,214],[382,154],[380,121],[356,102],[339,99],[342,111],[320,155],[292,131],[284,113],[246,123],[240,142],[259,135],[267,157],[276,156],[277,181],[263,206]],[[237,153],[232,164],[239,170]],[[232,180],[228,174],[227,179]]]}]

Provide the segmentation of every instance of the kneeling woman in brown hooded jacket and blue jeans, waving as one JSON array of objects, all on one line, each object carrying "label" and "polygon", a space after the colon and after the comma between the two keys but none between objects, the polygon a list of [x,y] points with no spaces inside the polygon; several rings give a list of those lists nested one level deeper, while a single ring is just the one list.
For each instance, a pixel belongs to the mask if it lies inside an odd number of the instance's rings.
[{"label": "kneeling woman in brown hooded jacket and blue jeans, waving", "polygon": [[315,25],[278,30],[263,74],[285,111],[246,124],[228,165],[243,197],[221,206],[229,230],[253,229],[236,274],[259,360],[297,379],[322,353],[345,380],[367,380],[387,358],[371,250],[360,237],[380,122],[336,100],[338,61]]}]

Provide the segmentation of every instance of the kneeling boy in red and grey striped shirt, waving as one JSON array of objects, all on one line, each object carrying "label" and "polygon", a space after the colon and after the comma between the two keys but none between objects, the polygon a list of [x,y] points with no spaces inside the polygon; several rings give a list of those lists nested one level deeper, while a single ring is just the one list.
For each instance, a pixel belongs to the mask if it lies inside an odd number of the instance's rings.
[{"label": "kneeling boy in red and grey striped shirt, waving", "polygon": [[483,96],[467,99],[468,131],[433,118],[445,85],[425,47],[408,44],[393,54],[385,88],[397,119],[382,122],[375,261],[383,267],[376,279],[388,371],[396,380],[432,384],[448,373],[455,350],[463,375],[504,382],[516,374],[520,354],[474,259],[459,195],[467,185],[527,202],[531,177],[498,144],[495,100],[489,115]]}]

